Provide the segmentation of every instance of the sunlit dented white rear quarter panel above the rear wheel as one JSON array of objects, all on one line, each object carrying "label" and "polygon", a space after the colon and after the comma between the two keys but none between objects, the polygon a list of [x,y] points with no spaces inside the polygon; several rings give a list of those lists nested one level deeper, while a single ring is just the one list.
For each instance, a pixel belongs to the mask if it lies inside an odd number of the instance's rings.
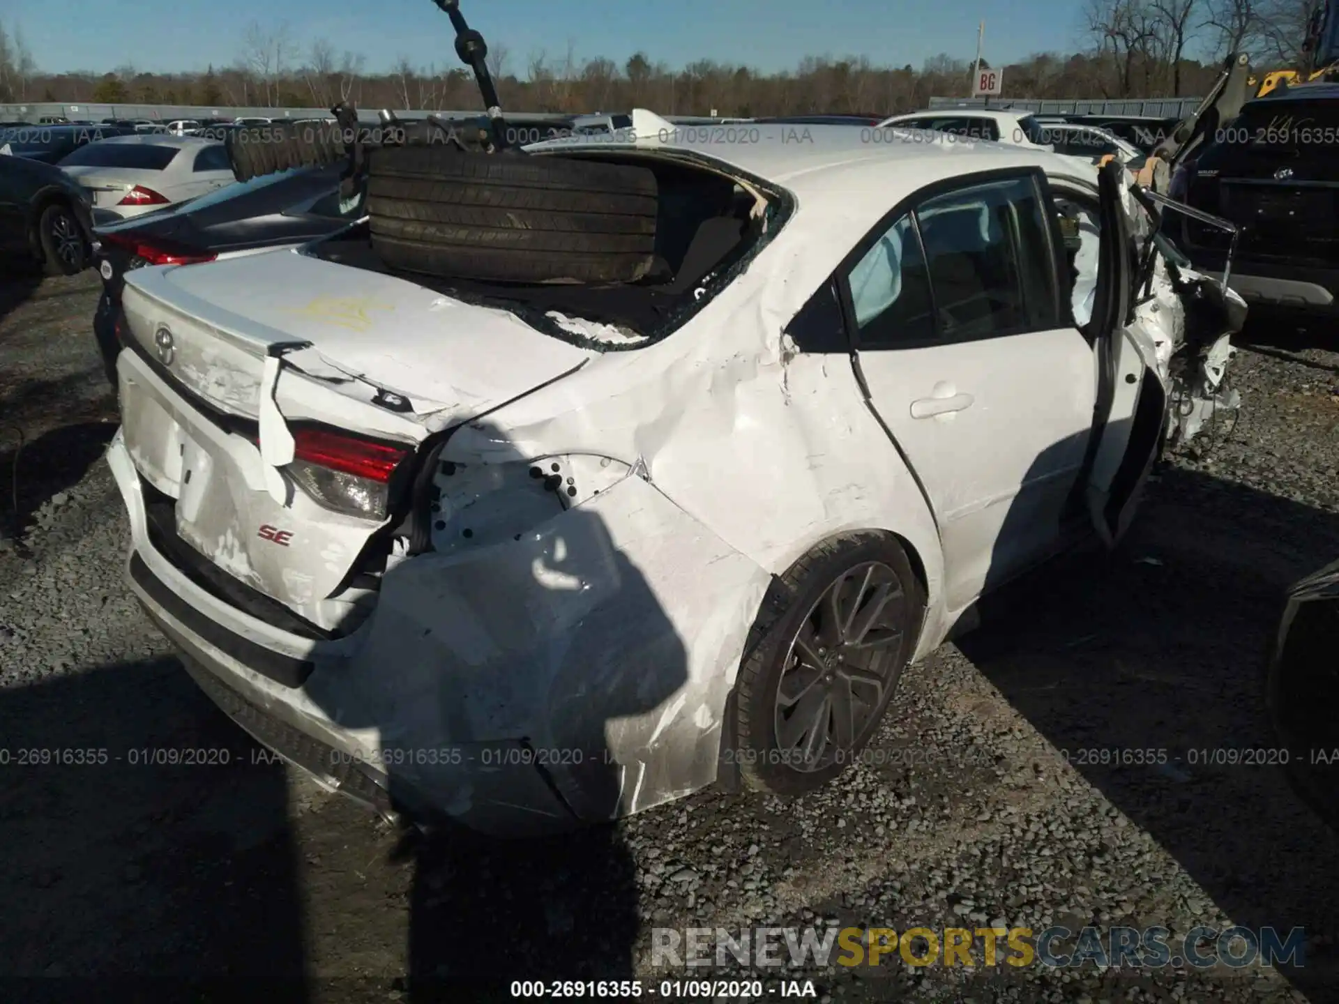
[{"label": "sunlit dented white rear quarter panel above the rear wheel", "polygon": [[[933,518],[865,406],[849,356],[783,351],[785,325],[849,250],[806,209],[672,336],[600,356],[486,424],[457,430],[453,456],[641,459],[675,505],[773,574],[828,537],[890,530],[920,558],[935,610],[943,569]],[[815,241],[828,254],[807,249]],[[940,637],[928,624],[917,657]],[[723,669],[731,681],[736,668]]]}]

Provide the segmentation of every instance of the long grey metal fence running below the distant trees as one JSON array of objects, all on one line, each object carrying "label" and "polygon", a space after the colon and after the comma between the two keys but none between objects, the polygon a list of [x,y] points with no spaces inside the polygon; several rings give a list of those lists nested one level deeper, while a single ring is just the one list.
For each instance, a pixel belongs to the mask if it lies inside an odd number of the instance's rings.
[{"label": "long grey metal fence running below the distant trees", "polygon": [[[1031,100],[1023,98],[931,98],[931,108],[1012,108],[1018,111],[1034,111],[1043,115],[1148,115],[1153,118],[1185,118],[1200,104],[1201,98],[1150,98],[1135,100],[1107,100],[1107,99],[1075,99],[1075,100]],[[396,111],[404,119],[423,118],[427,111]],[[446,118],[465,118],[482,115],[478,108],[469,111],[441,110],[435,112]],[[510,111],[510,115],[532,119],[560,119],[562,115],[553,112]],[[103,119],[151,119],[154,122],[173,122],[174,119],[238,119],[238,118],[266,118],[266,119],[311,119],[329,115],[328,108],[237,108],[237,107],[208,107],[201,104],[75,104],[60,102],[29,102],[25,104],[0,104],[0,120],[39,122],[46,116],[59,116],[71,120],[100,122]],[[367,120],[376,119],[376,108],[360,110],[359,116]],[[715,116],[707,115],[667,115],[672,122],[715,122]]]}]

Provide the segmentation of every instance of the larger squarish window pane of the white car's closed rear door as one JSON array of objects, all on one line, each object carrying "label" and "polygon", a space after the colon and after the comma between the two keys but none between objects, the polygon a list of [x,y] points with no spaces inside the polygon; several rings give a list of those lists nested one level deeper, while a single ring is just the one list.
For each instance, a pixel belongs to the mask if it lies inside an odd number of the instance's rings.
[{"label": "larger squarish window pane of the white car's closed rear door", "polygon": [[936,336],[980,339],[1055,325],[1055,269],[1031,178],[987,182],[916,210]]}]

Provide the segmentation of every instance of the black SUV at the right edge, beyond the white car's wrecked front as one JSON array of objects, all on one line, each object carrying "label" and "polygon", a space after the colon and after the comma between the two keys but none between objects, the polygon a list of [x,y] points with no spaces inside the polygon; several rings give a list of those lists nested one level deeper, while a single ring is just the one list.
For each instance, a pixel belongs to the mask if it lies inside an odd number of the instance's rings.
[{"label": "black SUV at the right edge, beyond the white car's wrecked front", "polygon": [[[1253,316],[1339,320],[1339,84],[1247,102],[1170,194],[1237,225],[1229,282]],[[1231,234],[1180,213],[1164,228],[1198,270],[1223,273]]]}]

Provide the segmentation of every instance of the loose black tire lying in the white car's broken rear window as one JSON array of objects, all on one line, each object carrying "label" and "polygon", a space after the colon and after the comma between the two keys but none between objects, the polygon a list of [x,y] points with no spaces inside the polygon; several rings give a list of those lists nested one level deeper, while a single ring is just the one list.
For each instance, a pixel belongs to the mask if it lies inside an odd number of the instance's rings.
[{"label": "loose black tire lying in the white car's broken rear window", "polygon": [[632,282],[652,266],[656,177],[558,157],[383,147],[372,248],[390,266],[502,282]]}]

